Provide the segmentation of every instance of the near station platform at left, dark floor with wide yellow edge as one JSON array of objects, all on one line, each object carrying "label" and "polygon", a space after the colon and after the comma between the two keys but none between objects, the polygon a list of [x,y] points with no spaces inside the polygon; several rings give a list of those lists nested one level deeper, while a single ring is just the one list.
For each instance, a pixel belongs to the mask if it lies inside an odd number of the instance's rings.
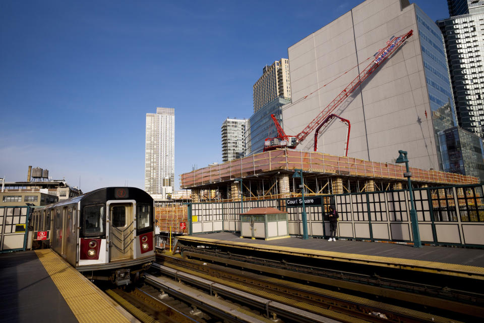
[{"label": "near station platform at left, dark floor with wide yellow edge", "polygon": [[0,254],[0,322],[138,322],[50,249]]}]

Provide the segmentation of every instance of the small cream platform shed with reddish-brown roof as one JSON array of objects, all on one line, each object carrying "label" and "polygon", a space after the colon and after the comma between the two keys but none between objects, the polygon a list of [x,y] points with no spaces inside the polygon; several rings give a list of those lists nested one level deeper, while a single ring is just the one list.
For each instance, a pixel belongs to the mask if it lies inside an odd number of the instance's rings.
[{"label": "small cream platform shed with reddish-brown roof", "polygon": [[287,212],[273,207],[256,207],[240,214],[240,238],[286,238],[288,232]]}]

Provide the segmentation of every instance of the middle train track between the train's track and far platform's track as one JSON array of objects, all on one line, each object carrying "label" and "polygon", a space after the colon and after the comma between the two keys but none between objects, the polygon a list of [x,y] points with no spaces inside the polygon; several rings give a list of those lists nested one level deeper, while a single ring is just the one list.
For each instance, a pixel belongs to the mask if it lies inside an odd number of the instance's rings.
[{"label": "middle train track between the train's track and far platform's track", "polygon": [[[200,256],[199,254],[191,254],[190,251],[187,250],[184,251],[184,255],[193,257]],[[397,298],[402,298],[402,295],[404,295],[405,299],[412,299],[413,303],[408,301],[403,303],[400,302],[402,303],[401,306],[385,303],[385,301],[395,299],[394,295],[388,295],[392,293],[392,291],[378,286],[369,286],[366,284],[351,282],[350,280],[347,280],[346,282],[344,280],[339,280],[338,283],[337,279],[331,278],[331,284],[333,286],[339,285],[340,291],[328,290],[320,287],[321,277],[314,277],[300,271],[275,270],[274,267],[267,266],[267,263],[265,266],[250,265],[247,262],[240,263],[240,261],[237,260],[227,261],[226,258],[214,259],[207,257],[207,255],[205,255],[204,259],[209,260],[209,263],[203,262],[203,260],[187,260],[182,259],[181,257],[166,255],[159,255],[157,259],[157,262],[163,264],[165,267],[171,268],[171,270],[177,271],[178,273],[183,272],[202,278],[208,278],[216,283],[225,283],[228,286],[234,284],[232,286],[236,286],[241,290],[246,289],[249,292],[252,291],[252,293],[255,294],[262,292],[270,293],[273,295],[271,296],[271,299],[278,300],[278,297],[281,297],[286,304],[304,303],[304,306],[300,305],[302,306],[301,308],[304,309],[307,309],[310,306],[315,306],[316,312],[321,312],[322,309],[327,309],[362,320],[370,319],[371,321],[385,322],[450,322],[462,319],[464,321],[478,321],[478,317],[482,317],[481,315],[484,313],[483,308],[480,306],[463,304],[451,300],[442,300],[426,295],[415,295],[407,291],[393,291],[393,293],[399,294],[397,295]],[[225,264],[223,266],[217,265],[211,263],[211,261],[217,261],[219,263],[224,262]],[[267,259],[264,261],[267,261]],[[244,268],[244,270],[237,270],[236,268],[229,267],[230,265]],[[250,270],[247,270],[248,267],[250,267]],[[258,271],[259,274],[264,273],[264,275],[255,274],[255,271]],[[268,277],[269,271],[272,272],[272,276],[274,272],[277,272],[277,275],[280,275],[284,279]],[[164,270],[164,274],[173,276],[173,274],[169,274],[166,270]],[[341,275],[341,273],[339,275]],[[297,278],[299,282],[294,282],[295,278]],[[328,278],[325,278],[324,280],[325,283],[328,283]],[[423,288],[422,286],[420,287]],[[349,293],[349,291],[353,292]],[[365,295],[369,296],[359,297],[358,294],[362,294],[362,291],[366,293]],[[374,298],[371,295],[372,292],[376,292],[378,297]],[[382,301],[382,299],[384,299],[384,301]],[[422,303],[428,303],[429,306],[437,303],[443,308],[439,309],[435,306],[425,308],[422,307]],[[412,304],[415,306],[412,306]],[[412,309],[412,307],[414,308]],[[420,308],[422,308],[422,310],[419,310]],[[457,309],[457,311],[454,311],[453,309]],[[328,315],[328,317],[341,319],[340,317],[337,317],[336,314],[329,313]],[[369,317],[369,315],[372,316]],[[441,315],[445,315],[446,317]],[[345,319],[342,321],[351,321],[350,319]]]}]

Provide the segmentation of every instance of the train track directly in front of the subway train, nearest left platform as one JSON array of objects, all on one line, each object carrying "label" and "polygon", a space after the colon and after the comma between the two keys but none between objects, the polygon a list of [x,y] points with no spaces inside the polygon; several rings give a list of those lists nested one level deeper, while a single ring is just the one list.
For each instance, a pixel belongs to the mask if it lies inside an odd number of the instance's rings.
[{"label": "train track directly in front of the subway train, nearest left platform", "polygon": [[[164,270],[166,273],[175,274],[167,267]],[[244,293],[222,284],[214,285],[212,282],[192,275],[179,274],[183,276],[184,283],[180,282],[181,276],[179,275],[175,275],[175,279],[169,279],[146,274],[144,284],[139,288],[131,291],[107,290],[106,293],[137,319],[149,323],[341,322],[257,295]],[[190,283],[187,284],[187,282]],[[203,287],[207,284],[211,284],[210,293],[203,291]]]}]

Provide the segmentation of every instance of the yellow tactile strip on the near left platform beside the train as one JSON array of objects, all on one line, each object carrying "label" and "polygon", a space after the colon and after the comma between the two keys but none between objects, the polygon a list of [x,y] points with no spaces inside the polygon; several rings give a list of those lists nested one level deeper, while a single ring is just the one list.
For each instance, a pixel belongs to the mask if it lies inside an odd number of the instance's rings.
[{"label": "yellow tactile strip on the near left platform beside the train", "polygon": [[130,322],[114,301],[50,249],[35,250],[40,262],[80,323]]}]

